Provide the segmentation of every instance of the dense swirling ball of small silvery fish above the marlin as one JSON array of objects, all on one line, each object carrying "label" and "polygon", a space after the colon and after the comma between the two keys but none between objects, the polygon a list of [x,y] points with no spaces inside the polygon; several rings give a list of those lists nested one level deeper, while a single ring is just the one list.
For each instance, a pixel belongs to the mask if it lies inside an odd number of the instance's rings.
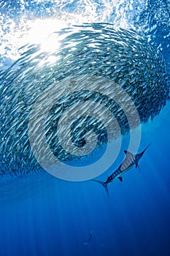
[{"label": "dense swirling ball of small silvery fish above the marlin", "polygon": [[[49,39],[58,41],[53,53],[43,52],[40,45],[26,46],[20,59],[0,74],[1,175],[42,170],[29,143],[29,115],[39,94],[56,86],[57,81],[75,75],[112,80],[129,94],[142,123],[158,115],[169,99],[165,63],[144,34],[125,29],[115,31],[106,24],[92,24],[63,29],[50,35]],[[123,135],[129,131],[125,113],[112,99],[85,90],[85,80],[80,83],[80,91],[74,94],[69,88],[63,88],[65,96],[56,102],[48,115],[47,143],[61,161],[74,158],[74,154],[64,151],[56,136],[59,118],[74,102],[87,99],[99,102],[115,115]],[[34,129],[39,129],[40,119],[37,118]],[[85,145],[85,133],[90,129],[98,136],[98,146],[107,143],[104,124],[95,118],[82,116],[71,128],[72,142],[77,147]],[[38,145],[38,139],[35,143]]]}]

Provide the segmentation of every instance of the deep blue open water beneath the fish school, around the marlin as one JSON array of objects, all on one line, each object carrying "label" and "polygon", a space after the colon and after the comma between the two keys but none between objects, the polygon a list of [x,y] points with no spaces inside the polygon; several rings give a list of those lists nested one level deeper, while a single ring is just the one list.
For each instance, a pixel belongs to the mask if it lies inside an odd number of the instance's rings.
[{"label": "deep blue open water beneath the fish school, around the marlin", "polygon": [[[140,24],[148,17],[147,26],[154,23],[149,7]],[[163,33],[165,28],[159,25],[152,38],[155,45]],[[169,64],[169,37],[163,45]],[[141,172],[134,168],[122,183],[109,184],[109,198],[92,181],[71,183],[48,173],[1,177],[0,255],[169,256],[169,107],[143,126],[140,150],[152,145],[140,163]],[[90,230],[92,239],[84,245]]]}]

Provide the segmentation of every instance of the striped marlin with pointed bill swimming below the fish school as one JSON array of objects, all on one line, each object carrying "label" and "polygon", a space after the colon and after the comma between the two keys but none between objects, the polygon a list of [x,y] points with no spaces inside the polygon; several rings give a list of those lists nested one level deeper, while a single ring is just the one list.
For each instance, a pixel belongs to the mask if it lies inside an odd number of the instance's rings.
[{"label": "striped marlin with pointed bill swimming below the fish school", "polygon": [[[150,143],[151,144],[151,143]],[[112,182],[115,178],[119,178],[120,181],[123,181],[122,175],[123,173],[127,172],[127,170],[131,169],[131,167],[139,167],[139,161],[142,158],[144,152],[147,150],[147,148],[150,145],[148,145],[144,151],[142,151],[139,154],[132,154],[129,151],[124,151],[125,152],[125,159],[123,160],[122,164],[107,178],[107,181],[97,181],[97,180],[92,180],[92,181],[96,181],[99,184],[101,184],[107,191],[107,195],[109,197],[109,190],[107,185]],[[140,170],[140,168],[139,168]]]}]

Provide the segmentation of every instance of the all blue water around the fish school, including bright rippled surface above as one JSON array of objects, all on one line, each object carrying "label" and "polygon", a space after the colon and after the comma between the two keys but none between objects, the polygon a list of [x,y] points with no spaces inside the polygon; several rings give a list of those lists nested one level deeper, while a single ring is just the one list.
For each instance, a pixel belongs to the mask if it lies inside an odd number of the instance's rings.
[{"label": "all blue water around the fish school, including bright rippled surface above", "polygon": [[[143,29],[169,68],[169,1],[117,1],[115,6],[112,1],[1,1],[0,8],[1,69],[18,59],[14,45],[22,38],[20,31],[26,33],[26,17],[70,15],[72,21],[74,13],[77,23],[85,18],[90,23],[124,26],[126,21],[134,29]],[[0,255],[169,256],[169,107],[167,102],[153,121],[142,124],[139,151],[149,143],[151,146],[140,162],[141,171],[133,168],[125,173],[123,182],[117,179],[109,184],[109,198],[104,188],[92,181],[63,181],[46,172],[1,176]],[[122,159],[123,152],[115,167]],[[109,174],[110,170],[100,179],[104,181]]]}]

